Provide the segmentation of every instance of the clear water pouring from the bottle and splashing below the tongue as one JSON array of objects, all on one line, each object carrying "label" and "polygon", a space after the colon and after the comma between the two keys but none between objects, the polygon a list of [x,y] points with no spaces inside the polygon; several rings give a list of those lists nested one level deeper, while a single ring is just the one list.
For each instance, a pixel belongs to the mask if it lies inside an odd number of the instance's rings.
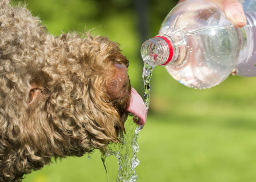
[{"label": "clear water pouring from the bottle and splashing below the tongue", "polygon": [[[150,78],[154,66],[151,66],[147,63],[143,67],[143,82],[144,82],[144,103],[148,110],[149,106],[149,91],[150,91]],[[101,151],[101,159],[106,170],[107,182],[109,182],[108,167],[106,165],[106,157],[109,155],[115,155],[118,162],[118,176],[117,182],[136,182],[138,176],[135,174],[135,168],[139,165],[138,153],[138,136],[139,132],[142,129],[142,126],[136,124],[138,117],[135,117],[133,114],[129,113],[127,120],[124,123],[125,133],[119,133],[118,139],[119,143],[110,143],[106,151]]]}]

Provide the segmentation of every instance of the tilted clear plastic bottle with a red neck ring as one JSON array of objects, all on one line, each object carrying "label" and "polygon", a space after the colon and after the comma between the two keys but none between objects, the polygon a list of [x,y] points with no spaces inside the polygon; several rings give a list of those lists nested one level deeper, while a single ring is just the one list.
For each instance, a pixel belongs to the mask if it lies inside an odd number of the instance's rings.
[{"label": "tilted clear plastic bottle with a red neck ring", "polygon": [[256,8],[251,8],[256,7],[256,0],[247,0],[245,5],[250,8],[245,9],[247,24],[242,28],[208,1],[176,5],[159,34],[143,43],[143,61],[165,66],[174,79],[193,88],[221,83],[235,66],[237,75],[256,76]]}]

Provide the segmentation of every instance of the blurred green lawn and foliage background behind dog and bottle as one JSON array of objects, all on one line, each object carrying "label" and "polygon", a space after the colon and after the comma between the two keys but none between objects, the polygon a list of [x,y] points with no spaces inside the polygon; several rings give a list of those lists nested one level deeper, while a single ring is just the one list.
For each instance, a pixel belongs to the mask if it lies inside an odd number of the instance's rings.
[{"label": "blurred green lawn and foliage background behind dog and bottle", "polygon": [[[140,46],[157,35],[174,0],[26,0],[50,33],[89,31],[117,41],[130,61],[132,87],[143,95]],[[93,29],[93,30],[92,30]],[[138,182],[255,182],[256,78],[232,76],[195,90],[164,67],[151,79],[147,122],[139,135]],[[103,182],[100,153],[69,157],[26,176],[24,182]],[[117,161],[107,158],[110,182]]]}]

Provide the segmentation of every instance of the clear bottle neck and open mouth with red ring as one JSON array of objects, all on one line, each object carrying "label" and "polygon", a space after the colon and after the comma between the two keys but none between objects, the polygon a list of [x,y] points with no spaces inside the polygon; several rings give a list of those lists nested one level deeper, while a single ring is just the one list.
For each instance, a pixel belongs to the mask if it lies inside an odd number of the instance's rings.
[{"label": "clear bottle neck and open mouth with red ring", "polygon": [[141,47],[141,56],[144,63],[152,66],[166,66],[173,60],[174,43],[172,39],[164,34],[159,34],[145,41]]}]

